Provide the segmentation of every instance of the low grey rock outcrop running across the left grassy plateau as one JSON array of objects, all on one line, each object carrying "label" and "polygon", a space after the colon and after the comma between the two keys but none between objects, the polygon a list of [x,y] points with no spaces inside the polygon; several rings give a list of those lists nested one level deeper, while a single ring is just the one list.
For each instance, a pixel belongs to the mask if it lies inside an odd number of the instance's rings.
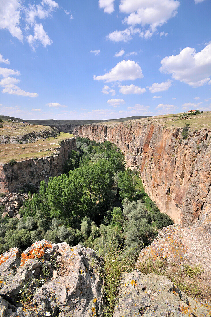
[{"label": "low grey rock outcrop running across the left grassy plateau", "polygon": [[11,144],[18,144],[18,143],[28,143],[28,142],[35,142],[37,139],[46,139],[50,137],[56,137],[59,131],[56,127],[49,127],[45,130],[40,132],[30,132],[24,135],[14,135],[14,136],[5,136],[0,135],[0,144],[1,143],[11,143]]}]

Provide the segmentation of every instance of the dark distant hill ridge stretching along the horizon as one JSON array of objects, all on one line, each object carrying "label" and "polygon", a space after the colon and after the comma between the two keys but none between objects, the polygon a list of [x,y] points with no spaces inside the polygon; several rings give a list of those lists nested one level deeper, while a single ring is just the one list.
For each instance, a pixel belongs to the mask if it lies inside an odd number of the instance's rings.
[{"label": "dark distant hill ridge stretching along the horizon", "polygon": [[[46,119],[46,120],[26,120],[30,124],[41,124],[43,126],[60,126],[63,124],[73,124],[73,125],[79,125],[82,126],[84,124],[92,124],[92,123],[100,123],[100,122],[124,122],[128,120],[137,120],[137,119],[143,119],[143,118],[148,118],[150,116],[134,116],[134,117],[127,117],[127,118],[121,118],[121,119],[107,119],[107,120],[53,120],[53,119]],[[2,116],[0,115],[0,118],[2,120],[8,120],[8,119],[16,119],[18,122],[21,122],[22,119],[18,119],[15,117],[8,117],[8,116]]]}]

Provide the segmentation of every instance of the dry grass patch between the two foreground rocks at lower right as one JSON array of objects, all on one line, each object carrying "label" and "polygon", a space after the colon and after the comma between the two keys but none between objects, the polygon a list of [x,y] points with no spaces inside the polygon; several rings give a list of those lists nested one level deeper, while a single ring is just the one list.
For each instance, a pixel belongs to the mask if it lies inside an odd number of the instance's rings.
[{"label": "dry grass patch between the two foreground rocks at lower right", "polygon": [[184,265],[184,267],[179,267],[173,263],[166,266],[166,263],[161,259],[149,258],[139,259],[136,269],[144,274],[165,275],[189,297],[211,304],[211,288],[205,287],[199,278],[203,272],[201,266]]}]

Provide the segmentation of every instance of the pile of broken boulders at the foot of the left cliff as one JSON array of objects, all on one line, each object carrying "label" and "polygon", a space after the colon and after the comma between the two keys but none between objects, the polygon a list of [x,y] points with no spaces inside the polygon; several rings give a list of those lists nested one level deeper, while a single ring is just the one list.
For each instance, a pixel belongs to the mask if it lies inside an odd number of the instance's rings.
[{"label": "pile of broken boulders at the foot of the left cliff", "polygon": [[28,198],[27,194],[19,193],[10,193],[6,197],[0,198],[0,206],[3,206],[5,211],[2,214],[2,217],[5,216],[11,217],[20,217],[18,212],[19,209],[23,206],[23,202]]}]

